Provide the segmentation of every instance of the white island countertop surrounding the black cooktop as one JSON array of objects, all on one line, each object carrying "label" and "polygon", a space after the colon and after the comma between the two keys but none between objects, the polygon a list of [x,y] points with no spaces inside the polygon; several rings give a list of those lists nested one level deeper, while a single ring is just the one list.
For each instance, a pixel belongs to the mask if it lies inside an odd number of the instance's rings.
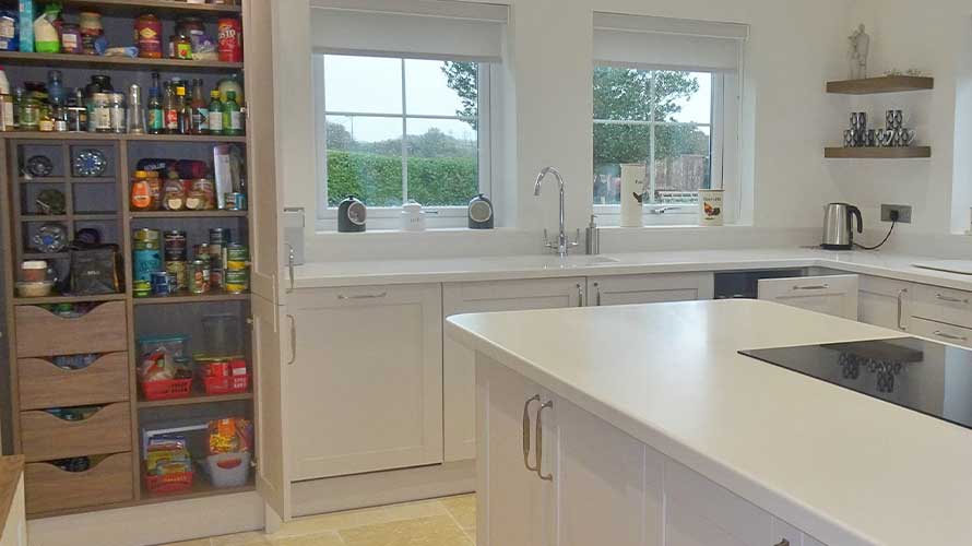
[{"label": "white island countertop surrounding the black cooktop", "polygon": [[756,300],[448,322],[460,343],[831,546],[972,536],[972,430],[737,353],[898,332]]}]

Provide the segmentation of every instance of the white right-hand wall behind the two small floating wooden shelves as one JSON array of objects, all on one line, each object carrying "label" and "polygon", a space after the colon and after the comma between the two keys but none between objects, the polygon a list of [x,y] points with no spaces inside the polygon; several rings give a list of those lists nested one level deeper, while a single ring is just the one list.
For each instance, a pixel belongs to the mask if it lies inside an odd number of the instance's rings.
[{"label": "white right-hand wall behind the two small floating wooden shelves", "polygon": [[[881,203],[911,204],[913,223],[900,225],[890,248],[926,254],[969,256],[972,205],[972,4],[963,0],[862,0],[851,23],[866,23],[873,36],[870,75],[918,69],[935,76],[935,90],[876,97],[832,98],[843,107],[868,110],[877,126],[884,110],[903,108],[918,142],[932,159],[833,162],[830,175],[843,199],[858,204],[867,240],[878,241],[889,224],[878,224]],[[850,33],[851,26],[847,26]],[[831,74],[843,78],[840,71]],[[875,118],[877,116],[877,119]],[[837,136],[834,135],[834,139]]]}]

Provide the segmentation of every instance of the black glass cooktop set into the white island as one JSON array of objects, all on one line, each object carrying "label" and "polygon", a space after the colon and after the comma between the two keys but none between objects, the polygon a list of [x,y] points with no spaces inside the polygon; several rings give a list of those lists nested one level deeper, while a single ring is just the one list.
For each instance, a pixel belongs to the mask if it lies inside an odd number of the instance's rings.
[{"label": "black glass cooktop set into the white island", "polygon": [[969,349],[894,337],[739,353],[972,429]]}]

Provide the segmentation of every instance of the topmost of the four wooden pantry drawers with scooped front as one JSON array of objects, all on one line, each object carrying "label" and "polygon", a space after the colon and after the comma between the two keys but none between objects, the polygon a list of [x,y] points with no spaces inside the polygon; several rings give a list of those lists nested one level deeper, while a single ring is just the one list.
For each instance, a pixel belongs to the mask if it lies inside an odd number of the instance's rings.
[{"label": "topmost of the four wooden pantry drawers with scooped front", "polygon": [[58,317],[36,306],[17,306],[14,319],[19,358],[128,348],[125,301],[102,304],[76,319]]}]

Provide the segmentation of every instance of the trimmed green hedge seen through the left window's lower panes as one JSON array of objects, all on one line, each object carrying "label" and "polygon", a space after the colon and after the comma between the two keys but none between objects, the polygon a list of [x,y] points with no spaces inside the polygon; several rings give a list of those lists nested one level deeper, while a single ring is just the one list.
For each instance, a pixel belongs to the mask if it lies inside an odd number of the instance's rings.
[{"label": "trimmed green hedge seen through the left window's lower panes", "polygon": [[[478,193],[473,157],[410,157],[408,198],[423,205],[465,205]],[[328,204],[347,195],[368,206],[402,204],[402,159],[361,152],[328,152]]]}]

